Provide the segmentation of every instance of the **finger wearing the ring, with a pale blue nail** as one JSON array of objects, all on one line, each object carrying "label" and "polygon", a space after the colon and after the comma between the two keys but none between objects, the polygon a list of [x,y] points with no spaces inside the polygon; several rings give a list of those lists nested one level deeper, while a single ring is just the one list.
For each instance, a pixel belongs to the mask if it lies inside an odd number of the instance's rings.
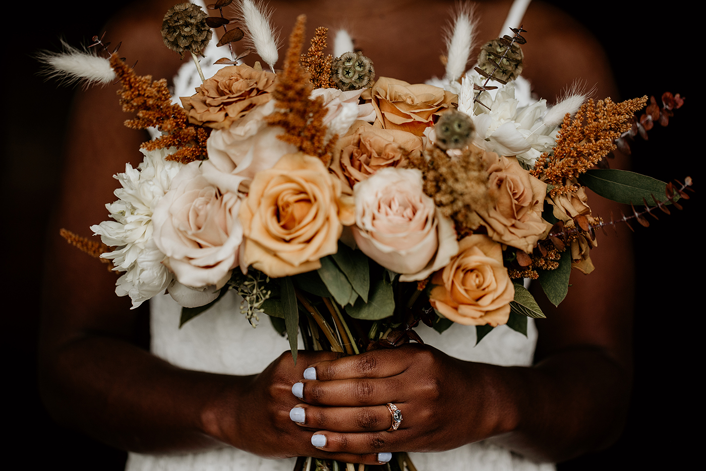
[{"label": "finger wearing the ring, with a pale blue nail", "polygon": [[289,419],[310,429],[337,432],[384,431],[393,423],[387,406],[316,407],[298,404],[289,411]]}]

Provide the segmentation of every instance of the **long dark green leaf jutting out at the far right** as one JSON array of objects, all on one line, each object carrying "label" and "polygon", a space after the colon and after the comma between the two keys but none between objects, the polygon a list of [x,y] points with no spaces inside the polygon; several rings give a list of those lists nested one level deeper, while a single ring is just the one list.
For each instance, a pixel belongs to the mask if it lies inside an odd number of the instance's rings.
[{"label": "long dark green leaf jutting out at the far right", "polygon": [[640,173],[628,172],[628,170],[616,168],[588,170],[578,178],[578,181],[602,197],[618,203],[642,204],[644,198],[647,204],[654,206],[653,194],[657,201],[669,202],[664,194],[665,182]]}]

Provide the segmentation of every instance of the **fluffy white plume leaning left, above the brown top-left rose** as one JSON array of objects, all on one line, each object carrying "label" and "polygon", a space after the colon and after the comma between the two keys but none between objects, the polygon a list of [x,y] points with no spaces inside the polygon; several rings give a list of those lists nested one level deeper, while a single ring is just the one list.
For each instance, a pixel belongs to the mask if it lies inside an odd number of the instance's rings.
[{"label": "fluffy white plume leaning left, above the brown top-left rose", "polygon": [[274,72],[279,57],[280,33],[275,32],[270,24],[273,10],[253,0],[239,0],[237,8],[245,25],[246,46],[255,49]]}]

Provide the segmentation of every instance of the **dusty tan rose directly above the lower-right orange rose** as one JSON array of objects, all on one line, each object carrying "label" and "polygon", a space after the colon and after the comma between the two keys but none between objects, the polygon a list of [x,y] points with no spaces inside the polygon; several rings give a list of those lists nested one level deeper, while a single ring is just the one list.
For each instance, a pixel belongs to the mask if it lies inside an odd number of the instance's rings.
[{"label": "dusty tan rose directly above the lower-right orange rose", "polygon": [[[486,153],[486,159],[496,156]],[[546,183],[534,178],[515,157],[499,157],[488,168],[489,196],[495,206],[477,211],[488,236],[531,253],[551,227],[542,219]]]}]

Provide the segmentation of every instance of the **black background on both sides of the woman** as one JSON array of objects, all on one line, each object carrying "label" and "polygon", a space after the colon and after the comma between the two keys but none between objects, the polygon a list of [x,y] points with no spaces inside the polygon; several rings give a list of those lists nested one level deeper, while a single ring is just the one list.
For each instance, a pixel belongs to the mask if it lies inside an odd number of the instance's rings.
[{"label": "black background on both sides of the woman", "polygon": [[[42,2],[40,2],[41,4]],[[633,166],[664,181],[690,175],[698,192],[686,210],[660,217],[650,228],[636,228],[638,273],[635,311],[635,385],[626,429],[600,453],[559,465],[559,470],[619,469],[647,465],[682,469],[696,449],[700,429],[695,372],[702,303],[696,267],[703,250],[695,240],[703,199],[703,136],[696,115],[702,82],[700,42],[694,12],[685,2],[647,8],[639,2],[550,1],[592,30],[609,53],[621,98],[681,93],[686,105],[669,127],[655,128],[649,142],[633,147]],[[39,324],[39,286],[45,257],[46,226],[57,192],[66,115],[73,89],[57,87],[36,75],[37,50],[59,50],[58,37],[71,45],[88,42],[122,2],[78,1],[33,4],[20,20],[21,37],[8,37],[4,54],[3,202],[4,312],[2,358],[6,373],[4,417],[11,443],[8,455],[31,468],[68,465],[73,470],[122,470],[125,454],[54,424],[37,393],[35,373]],[[589,8],[590,7],[590,8]],[[25,10],[26,13],[26,10]],[[40,26],[37,26],[39,24]],[[528,28],[530,29],[530,28]],[[525,35],[531,40],[531,31]],[[605,243],[609,243],[606,240]],[[701,306],[701,307],[699,307]],[[698,432],[697,432],[698,433]],[[686,453],[685,453],[686,452]],[[31,463],[31,464],[30,464]]]}]

